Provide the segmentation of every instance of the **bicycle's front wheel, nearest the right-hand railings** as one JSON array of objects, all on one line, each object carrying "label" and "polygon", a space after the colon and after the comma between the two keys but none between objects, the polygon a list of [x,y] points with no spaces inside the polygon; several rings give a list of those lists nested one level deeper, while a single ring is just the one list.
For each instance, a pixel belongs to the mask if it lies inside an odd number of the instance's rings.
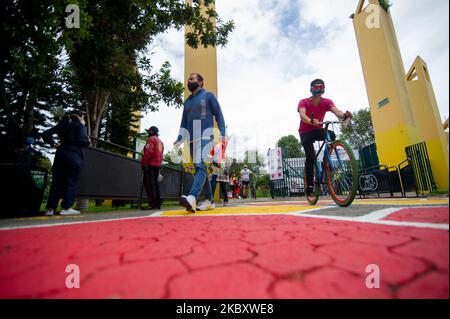
[{"label": "bicycle's front wheel, nearest the right-hand railings", "polygon": [[335,141],[330,147],[331,164],[325,165],[327,184],[334,202],[348,207],[358,190],[358,165],[350,146],[343,141]]}]

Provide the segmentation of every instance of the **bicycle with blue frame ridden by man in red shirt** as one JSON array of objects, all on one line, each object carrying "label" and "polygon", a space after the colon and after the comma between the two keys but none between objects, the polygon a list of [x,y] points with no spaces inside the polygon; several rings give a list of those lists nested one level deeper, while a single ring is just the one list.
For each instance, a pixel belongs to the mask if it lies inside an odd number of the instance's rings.
[{"label": "bicycle with blue frame ridden by man in red shirt", "polygon": [[[328,190],[334,202],[340,207],[348,207],[355,199],[358,190],[358,165],[350,146],[341,140],[332,141],[328,127],[344,121],[324,122],[325,140],[314,158],[313,195],[306,195],[310,205],[316,205],[319,197]],[[319,155],[324,149],[324,169],[319,165]],[[326,183],[325,183],[326,177]],[[306,182],[306,167],[303,178]]]}]

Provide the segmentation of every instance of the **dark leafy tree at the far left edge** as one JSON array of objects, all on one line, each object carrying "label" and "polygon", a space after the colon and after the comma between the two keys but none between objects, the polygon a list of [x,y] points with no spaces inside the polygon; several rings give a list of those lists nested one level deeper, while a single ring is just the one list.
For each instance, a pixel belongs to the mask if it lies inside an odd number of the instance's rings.
[{"label": "dark leafy tree at the far left edge", "polygon": [[[6,0],[0,7],[0,131],[17,147],[25,135],[51,124],[47,112],[63,105],[62,2]],[[79,30],[82,37],[85,30]]]}]

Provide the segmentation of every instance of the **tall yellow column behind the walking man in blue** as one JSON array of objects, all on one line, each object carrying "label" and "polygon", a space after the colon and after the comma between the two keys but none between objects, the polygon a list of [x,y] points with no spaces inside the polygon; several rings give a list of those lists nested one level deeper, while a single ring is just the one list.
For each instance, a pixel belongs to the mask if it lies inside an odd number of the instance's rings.
[{"label": "tall yellow column behind the walking man in blue", "polygon": [[[192,0],[186,0],[187,4],[192,5]],[[211,7],[215,9],[214,3],[211,4]],[[202,11],[206,11],[206,7],[202,8]],[[188,33],[191,30],[190,27],[186,26],[185,33]],[[217,50],[216,47],[207,47],[204,48],[202,45],[199,45],[197,49],[193,49],[184,44],[184,97],[185,99],[191,94],[187,89],[187,79],[189,75],[192,73],[199,73],[204,78],[204,89],[208,90],[216,97],[218,97],[218,82],[217,82]],[[214,122],[214,126],[217,128],[217,123]],[[184,148],[187,151],[187,145]],[[186,152],[185,152],[186,153]],[[186,165],[185,168],[189,171],[192,171],[192,165]],[[214,196],[214,200],[220,200],[219,196],[219,187],[216,187],[216,193]]]}]

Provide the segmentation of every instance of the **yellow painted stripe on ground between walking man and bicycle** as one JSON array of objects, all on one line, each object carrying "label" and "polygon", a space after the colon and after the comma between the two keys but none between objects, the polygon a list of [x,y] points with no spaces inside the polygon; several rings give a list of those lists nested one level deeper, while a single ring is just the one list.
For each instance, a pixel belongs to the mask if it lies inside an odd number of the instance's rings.
[{"label": "yellow painted stripe on ground between walking man and bicycle", "polygon": [[201,215],[240,215],[240,214],[286,214],[299,211],[317,210],[321,206],[259,206],[259,207],[220,207],[206,212],[189,213],[186,210],[164,212],[161,216],[201,216]]}]

